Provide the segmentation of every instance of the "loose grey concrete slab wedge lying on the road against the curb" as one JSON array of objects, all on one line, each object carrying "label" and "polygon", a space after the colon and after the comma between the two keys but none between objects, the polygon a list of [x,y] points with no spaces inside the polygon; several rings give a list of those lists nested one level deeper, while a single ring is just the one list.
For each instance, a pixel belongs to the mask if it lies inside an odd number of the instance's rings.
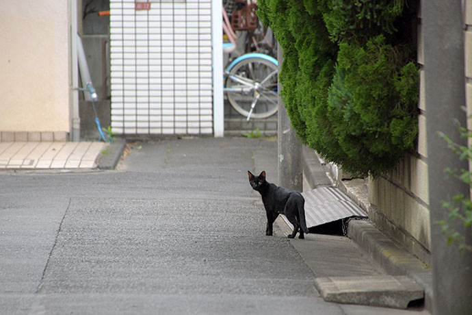
[{"label": "loose grey concrete slab wedge lying on the road against the curb", "polygon": [[315,286],[325,301],[406,309],[424,290],[406,276],[325,277]]}]

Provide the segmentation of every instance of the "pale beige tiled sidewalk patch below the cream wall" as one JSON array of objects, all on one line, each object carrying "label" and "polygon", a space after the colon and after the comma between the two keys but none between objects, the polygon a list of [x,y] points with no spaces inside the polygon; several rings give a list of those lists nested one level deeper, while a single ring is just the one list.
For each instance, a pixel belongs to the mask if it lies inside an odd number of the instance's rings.
[{"label": "pale beige tiled sidewalk patch below the cream wall", "polygon": [[0,169],[95,168],[104,142],[0,142]]}]

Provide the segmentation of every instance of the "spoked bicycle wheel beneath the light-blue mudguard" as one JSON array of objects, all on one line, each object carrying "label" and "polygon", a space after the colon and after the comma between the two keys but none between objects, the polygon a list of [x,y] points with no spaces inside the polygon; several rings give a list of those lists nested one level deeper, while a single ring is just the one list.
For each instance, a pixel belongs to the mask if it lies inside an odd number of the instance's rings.
[{"label": "spoked bicycle wheel beneath the light-blue mudguard", "polygon": [[248,120],[272,116],[278,110],[277,74],[278,68],[270,60],[252,57],[237,62],[226,77],[229,103]]}]

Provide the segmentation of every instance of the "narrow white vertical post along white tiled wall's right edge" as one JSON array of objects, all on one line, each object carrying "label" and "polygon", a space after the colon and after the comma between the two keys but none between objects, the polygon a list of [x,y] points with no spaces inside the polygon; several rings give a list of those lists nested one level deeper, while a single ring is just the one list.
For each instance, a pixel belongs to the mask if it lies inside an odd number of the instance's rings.
[{"label": "narrow white vertical post along white tiled wall's right edge", "polygon": [[224,136],[223,99],[223,24],[222,1],[211,1],[211,38],[213,42],[213,134]]}]

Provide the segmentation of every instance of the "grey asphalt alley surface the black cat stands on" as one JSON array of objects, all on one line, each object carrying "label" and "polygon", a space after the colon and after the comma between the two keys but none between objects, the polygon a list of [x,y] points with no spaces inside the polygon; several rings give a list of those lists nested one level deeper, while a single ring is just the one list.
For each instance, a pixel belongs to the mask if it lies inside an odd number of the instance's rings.
[{"label": "grey asphalt alley surface the black cat stands on", "polygon": [[246,171],[276,182],[276,157],[189,138],[134,144],[116,171],[1,171],[0,314],[428,314],[319,297],[315,273],[383,271],[348,238],[265,236]]}]

